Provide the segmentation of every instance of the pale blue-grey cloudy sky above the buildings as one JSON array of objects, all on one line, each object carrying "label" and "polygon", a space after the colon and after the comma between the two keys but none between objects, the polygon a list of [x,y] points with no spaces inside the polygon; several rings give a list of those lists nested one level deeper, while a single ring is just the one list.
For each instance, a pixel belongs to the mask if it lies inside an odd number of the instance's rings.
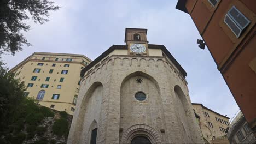
[{"label": "pale blue-grey cloudy sky above the buildings", "polygon": [[125,28],[147,28],[149,44],[165,45],[187,71],[192,103],[232,118],[238,106],[217,70],[210,52],[199,49],[201,39],[191,17],[175,9],[176,1],[85,1],[56,0],[59,11],[51,12],[44,25],[28,23],[25,33],[33,45],[13,57],[3,55],[9,68],[33,52],[83,54],[94,60],[113,44],[125,45]]}]

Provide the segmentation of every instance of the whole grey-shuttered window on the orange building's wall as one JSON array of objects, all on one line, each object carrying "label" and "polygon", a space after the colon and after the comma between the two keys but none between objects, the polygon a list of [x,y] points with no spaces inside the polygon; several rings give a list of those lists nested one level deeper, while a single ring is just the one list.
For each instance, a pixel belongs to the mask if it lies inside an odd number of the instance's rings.
[{"label": "whole grey-shuttered window on the orange building's wall", "polygon": [[245,15],[243,15],[235,6],[233,6],[225,15],[224,22],[237,38],[240,37],[243,29],[251,23],[251,21],[247,19],[247,17],[245,17]]}]

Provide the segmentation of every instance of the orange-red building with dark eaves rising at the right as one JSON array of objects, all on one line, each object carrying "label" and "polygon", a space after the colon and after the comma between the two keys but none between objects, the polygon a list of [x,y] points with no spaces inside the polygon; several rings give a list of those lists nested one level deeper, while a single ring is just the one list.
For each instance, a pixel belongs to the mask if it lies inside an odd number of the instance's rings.
[{"label": "orange-red building with dark eaves rising at the right", "polygon": [[179,0],[176,9],[193,19],[256,135],[256,1]]}]

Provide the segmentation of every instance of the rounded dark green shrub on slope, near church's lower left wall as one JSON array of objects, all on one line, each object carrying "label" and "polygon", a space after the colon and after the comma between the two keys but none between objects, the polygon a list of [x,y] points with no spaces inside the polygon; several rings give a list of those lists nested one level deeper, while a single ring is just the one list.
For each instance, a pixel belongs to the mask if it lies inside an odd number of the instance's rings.
[{"label": "rounded dark green shrub on slope, near church's lower left wall", "polygon": [[63,135],[67,135],[68,133],[68,121],[67,119],[60,118],[53,124],[53,134],[61,137]]}]

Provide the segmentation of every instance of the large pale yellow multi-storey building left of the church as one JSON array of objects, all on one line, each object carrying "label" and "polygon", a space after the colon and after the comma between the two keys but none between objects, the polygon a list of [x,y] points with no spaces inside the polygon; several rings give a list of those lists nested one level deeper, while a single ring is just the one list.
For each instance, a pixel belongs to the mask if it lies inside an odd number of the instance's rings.
[{"label": "large pale yellow multi-storey building left of the church", "polygon": [[91,62],[84,55],[34,52],[9,72],[25,82],[25,97],[73,115],[80,87],[80,71]]}]

